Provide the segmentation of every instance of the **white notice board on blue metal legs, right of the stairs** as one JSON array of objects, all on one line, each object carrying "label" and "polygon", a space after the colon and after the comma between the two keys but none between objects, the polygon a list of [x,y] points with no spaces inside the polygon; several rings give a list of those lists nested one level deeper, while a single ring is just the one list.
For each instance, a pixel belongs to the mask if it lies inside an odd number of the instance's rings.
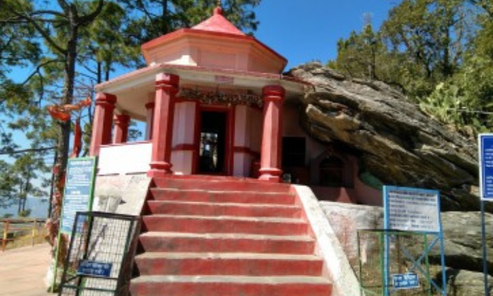
[{"label": "white notice board on blue metal legs, right of the stairs", "polygon": [[[431,244],[425,248],[423,254],[420,255],[418,259],[411,256],[411,254],[402,247],[402,252],[404,257],[412,262],[413,266],[408,271],[408,273],[416,274],[418,271],[426,276],[430,285],[432,285],[437,291],[442,295],[447,295],[447,280],[445,274],[445,256],[444,256],[444,244],[443,244],[443,231],[442,223],[440,218],[440,194],[437,190],[425,190],[418,188],[407,188],[407,187],[383,187],[384,195],[384,220],[385,220],[385,230],[400,230],[410,233],[423,233],[426,235],[435,235],[435,239],[432,240]],[[423,270],[420,266],[423,261],[428,262],[428,254],[435,245],[439,243],[441,263],[442,263],[442,287],[439,287],[435,280],[430,278],[429,271]],[[388,296],[392,294],[394,290],[399,289],[393,285],[393,291],[389,291],[389,236],[385,234],[385,287],[384,295]],[[427,264],[428,266],[428,264]],[[411,285],[411,282],[415,284],[418,283],[418,277],[416,274],[416,280],[410,281],[412,278],[409,276],[404,276],[404,274],[395,274],[395,278],[398,280],[404,278],[407,280],[406,288]],[[399,285],[404,285],[404,282],[399,282]],[[411,285],[412,286],[412,285]]]}]

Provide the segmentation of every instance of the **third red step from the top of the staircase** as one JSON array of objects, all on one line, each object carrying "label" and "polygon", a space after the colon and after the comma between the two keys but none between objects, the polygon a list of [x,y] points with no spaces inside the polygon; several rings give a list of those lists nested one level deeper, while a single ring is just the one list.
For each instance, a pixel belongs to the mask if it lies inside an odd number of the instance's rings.
[{"label": "third red step from the top of the staircase", "polygon": [[149,200],[151,214],[241,217],[301,217],[301,207],[282,204],[222,204]]}]

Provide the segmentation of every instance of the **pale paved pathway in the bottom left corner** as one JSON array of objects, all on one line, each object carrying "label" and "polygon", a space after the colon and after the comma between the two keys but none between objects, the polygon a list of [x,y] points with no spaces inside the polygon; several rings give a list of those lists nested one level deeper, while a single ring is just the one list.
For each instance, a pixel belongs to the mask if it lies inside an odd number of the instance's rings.
[{"label": "pale paved pathway in the bottom left corner", "polygon": [[48,244],[0,252],[0,295],[49,296],[44,277],[50,258]]}]

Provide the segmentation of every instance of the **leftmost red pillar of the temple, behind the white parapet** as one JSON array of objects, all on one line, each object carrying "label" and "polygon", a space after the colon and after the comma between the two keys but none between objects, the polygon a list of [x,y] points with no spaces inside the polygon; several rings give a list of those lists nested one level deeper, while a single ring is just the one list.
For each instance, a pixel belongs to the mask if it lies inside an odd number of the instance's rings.
[{"label": "leftmost red pillar of the temple, behind the white parapet", "polygon": [[96,109],[92,121],[91,156],[99,155],[101,145],[111,143],[111,128],[113,125],[113,110],[115,109],[116,96],[98,92],[96,94]]}]

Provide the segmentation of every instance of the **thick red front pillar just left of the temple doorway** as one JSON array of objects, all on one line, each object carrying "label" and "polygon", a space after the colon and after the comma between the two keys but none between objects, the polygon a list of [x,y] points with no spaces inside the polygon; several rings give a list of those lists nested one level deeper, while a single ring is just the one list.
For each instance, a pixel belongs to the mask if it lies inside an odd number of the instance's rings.
[{"label": "thick red front pillar just left of the temple doorway", "polygon": [[154,101],[154,121],[152,128],[152,158],[149,177],[164,177],[170,173],[171,141],[173,140],[173,116],[175,96],[180,77],[173,74],[156,75],[156,101]]}]

